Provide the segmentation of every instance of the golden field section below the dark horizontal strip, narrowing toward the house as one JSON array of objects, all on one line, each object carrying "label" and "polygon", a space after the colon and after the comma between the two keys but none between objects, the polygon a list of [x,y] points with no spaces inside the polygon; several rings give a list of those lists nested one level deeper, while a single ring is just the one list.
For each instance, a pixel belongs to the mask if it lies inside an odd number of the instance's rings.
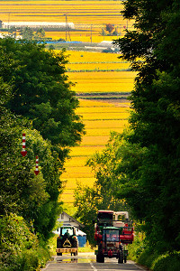
[{"label": "golden field section below the dark horizontal strip, narrowing toward the house", "polygon": [[[97,120],[99,114],[104,114],[108,118],[109,114],[117,116],[127,114],[129,116],[129,102],[119,103],[118,105],[80,99],[80,107],[76,109],[76,113],[84,118],[87,114],[91,114],[91,120],[84,120],[86,135],[83,137],[80,146],[72,148],[70,153],[71,159],[65,164],[66,173],[63,173],[62,180],[67,182],[66,189],[63,192],[62,199],[69,204],[74,201],[73,193],[76,188],[76,182],[81,182],[83,185],[93,186],[95,181],[94,173],[91,168],[85,166],[88,158],[96,151],[102,151],[107,144],[110,136],[110,131],[122,132],[123,127],[128,125],[127,119],[117,120]],[[92,110],[92,113],[91,113]],[[101,112],[98,114],[98,112]],[[113,112],[113,113],[112,113]]]}]

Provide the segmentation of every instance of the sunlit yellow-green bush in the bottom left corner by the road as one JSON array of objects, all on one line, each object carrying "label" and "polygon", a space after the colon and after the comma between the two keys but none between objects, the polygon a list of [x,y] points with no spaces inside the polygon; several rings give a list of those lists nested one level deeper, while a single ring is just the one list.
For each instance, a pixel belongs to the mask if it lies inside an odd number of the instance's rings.
[{"label": "sunlit yellow-green bush in the bottom left corner by the road", "polygon": [[0,251],[4,271],[37,271],[49,259],[48,248],[40,248],[37,236],[13,213],[0,220]]}]

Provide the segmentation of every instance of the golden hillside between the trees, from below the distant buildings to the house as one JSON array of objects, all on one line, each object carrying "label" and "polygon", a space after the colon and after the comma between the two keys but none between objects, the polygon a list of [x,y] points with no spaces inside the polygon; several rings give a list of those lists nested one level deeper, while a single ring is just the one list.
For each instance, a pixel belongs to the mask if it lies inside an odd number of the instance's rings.
[{"label": "golden hillside between the trees, from below the distant buildings to the house", "polygon": [[[115,53],[67,51],[67,55],[67,75],[69,80],[76,83],[72,89],[80,97],[76,113],[83,117],[86,131],[81,144],[72,148],[71,158],[65,164],[66,172],[62,175],[62,180],[67,182],[62,200],[72,204],[76,182],[88,186],[94,183],[94,173],[85,165],[87,159],[96,151],[103,150],[111,131],[121,133],[123,127],[128,125],[130,102],[120,96],[130,94],[135,73],[109,70],[114,63],[119,70],[130,68],[130,63],[118,59]],[[102,65],[106,71],[93,70],[91,64],[96,65],[94,69]],[[69,71],[69,67],[73,67],[74,71]]]}]

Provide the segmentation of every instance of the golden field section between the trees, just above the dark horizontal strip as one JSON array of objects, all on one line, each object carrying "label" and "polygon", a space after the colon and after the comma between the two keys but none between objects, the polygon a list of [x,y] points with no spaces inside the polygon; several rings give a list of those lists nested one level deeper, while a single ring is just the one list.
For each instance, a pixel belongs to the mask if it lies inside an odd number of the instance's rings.
[{"label": "golden field section between the trees, just above the dark horizontal strip", "polygon": [[[130,92],[134,86],[135,72],[133,71],[98,71],[128,69],[130,63],[118,59],[118,54],[89,51],[67,51],[69,80],[76,85],[72,87],[77,93],[94,92]],[[95,62],[95,63],[94,63]],[[118,63],[113,63],[118,62]],[[92,71],[95,70],[96,71]],[[86,70],[78,72],[79,70]],[[90,70],[90,71],[88,71]]]}]

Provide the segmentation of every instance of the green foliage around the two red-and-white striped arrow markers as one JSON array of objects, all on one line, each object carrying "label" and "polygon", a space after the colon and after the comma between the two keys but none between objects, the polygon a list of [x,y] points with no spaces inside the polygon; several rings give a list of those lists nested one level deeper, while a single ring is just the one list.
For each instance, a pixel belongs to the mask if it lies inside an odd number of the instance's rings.
[{"label": "green foliage around the two red-and-white striped arrow markers", "polygon": [[[36,130],[23,128],[25,124],[3,107],[0,121],[0,213],[16,212],[32,221],[35,230],[48,237],[58,216],[58,194],[61,163],[58,154]],[[22,126],[20,126],[22,125]],[[22,133],[26,133],[23,157]],[[34,174],[35,156],[40,159],[40,173]]]}]

